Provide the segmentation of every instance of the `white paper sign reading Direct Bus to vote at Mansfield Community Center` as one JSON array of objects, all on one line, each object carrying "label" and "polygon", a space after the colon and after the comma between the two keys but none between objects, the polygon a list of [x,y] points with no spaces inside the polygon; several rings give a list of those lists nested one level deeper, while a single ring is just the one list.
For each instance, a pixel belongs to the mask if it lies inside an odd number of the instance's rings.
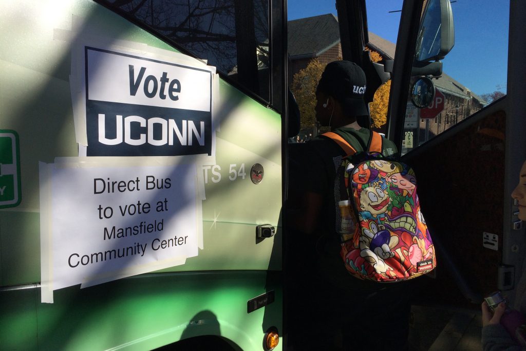
[{"label": "white paper sign reading Direct Bus to vote at Mansfield Community Center", "polygon": [[[197,256],[202,222],[195,165],[56,162],[41,164],[41,184],[46,177],[50,187],[41,188],[41,197],[48,197],[50,208],[42,236],[50,251],[48,267],[44,257],[42,269],[51,294],[184,264]],[[45,295],[43,289],[43,302]]]}]

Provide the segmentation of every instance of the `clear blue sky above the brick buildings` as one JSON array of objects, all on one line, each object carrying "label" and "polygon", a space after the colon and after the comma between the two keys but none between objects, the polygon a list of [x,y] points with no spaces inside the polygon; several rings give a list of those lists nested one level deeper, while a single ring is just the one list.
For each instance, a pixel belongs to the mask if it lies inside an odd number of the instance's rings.
[{"label": "clear blue sky above the brick buildings", "polygon": [[[454,1],[454,0],[453,0]],[[327,13],[336,15],[335,0],[288,0],[288,18]],[[457,0],[451,3],[455,46],[443,59],[443,72],[482,95],[506,92],[508,60],[507,1]],[[369,31],[393,43],[397,40],[402,0],[368,0]]]}]

